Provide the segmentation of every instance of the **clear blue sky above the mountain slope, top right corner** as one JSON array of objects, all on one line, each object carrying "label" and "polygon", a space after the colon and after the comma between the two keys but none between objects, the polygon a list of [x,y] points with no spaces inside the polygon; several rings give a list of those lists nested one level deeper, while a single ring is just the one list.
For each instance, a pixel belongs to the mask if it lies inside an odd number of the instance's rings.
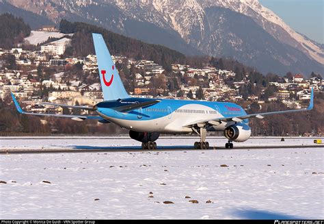
[{"label": "clear blue sky above the mountain slope, top right corner", "polygon": [[323,38],[324,0],[259,0],[280,16],[295,31],[321,44]]}]

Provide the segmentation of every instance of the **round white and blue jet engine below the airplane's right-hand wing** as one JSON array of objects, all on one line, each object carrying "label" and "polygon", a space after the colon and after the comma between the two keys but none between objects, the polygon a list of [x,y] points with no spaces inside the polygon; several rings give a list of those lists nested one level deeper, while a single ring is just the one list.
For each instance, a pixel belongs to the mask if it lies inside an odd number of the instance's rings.
[{"label": "round white and blue jet engine below the airplane's right-hand wing", "polygon": [[249,125],[237,124],[226,127],[224,136],[234,142],[245,142],[251,136]]}]

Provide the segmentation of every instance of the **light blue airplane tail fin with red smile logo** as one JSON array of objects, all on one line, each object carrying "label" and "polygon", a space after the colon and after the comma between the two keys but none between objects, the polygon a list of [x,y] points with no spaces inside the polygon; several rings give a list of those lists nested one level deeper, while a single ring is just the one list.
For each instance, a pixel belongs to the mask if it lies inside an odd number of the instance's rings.
[{"label": "light blue airplane tail fin with red smile logo", "polygon": [[122,84],[115,64],[113,64],[103,36],[101,34],[92,34],[92,38],[94,38],[94,49],[97,56],[101,88],[103,89],[103,99],[107,101],[129,98],[130,96]]}]

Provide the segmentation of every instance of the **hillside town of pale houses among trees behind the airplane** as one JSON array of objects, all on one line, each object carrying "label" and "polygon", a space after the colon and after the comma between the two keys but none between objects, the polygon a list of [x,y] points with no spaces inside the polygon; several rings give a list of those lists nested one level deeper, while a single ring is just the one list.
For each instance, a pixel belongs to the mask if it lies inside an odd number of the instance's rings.
[{"label": "hillside town of pale houses among trees behind the airplane", "polygon": [[[41,32],[53,31],[55,32],[55,30],[45,29]],[[18,68],[10,69],[4,60],[0,60],[0,98],[4,100],[12,92],[23,100],[23,103],[28,104],[27,110],[53,113],[62,113],[63,108],[38,105],[38,102],[96,105],[103,101],[96,55],[90,54],[85,58],[65,58],[64,52],[70,45],[70,41],[70,38],[64,37],[46,42],[40,46],[40,51],[27,51],[22,48],[0,49],[0,56],[12,55],[14,58],[12,63]],[[226,80],[235,77],[236,73],[213,66],[196,69],[189,64],[172,64],[172,71],[167,72],[163,66],[152,60],[135,60],[121,55],[113,55],[113,60],[133,72],[131,74],[133,85],[129,90],[133,97],[238,102],[243,100],[239,89],[250,82],[245,75],[241,81],[228,84]],[[72,67],[79,68],[79,72],[93,77],[91,80],[96,82],[82,82],[77,75],[72,77],[69,75],[67,79],[67,71]],[[46,74],[46,68],[51,69],[51,73]],[[311,88],[315,91],[324,90],[324,80],[321,77],[306,78],[301,74],[295,74],[291,79],[283,77],[280,82],[269,82],[269,85],[275,86],[277,90],[273,95],[267,99],[248,95],[247,101],[259,105],[265,101],[281,101],[288,108],[297,109],[301,108],[301,101],[310,99]],[[48,91],[45,95],[44,90]]]}]

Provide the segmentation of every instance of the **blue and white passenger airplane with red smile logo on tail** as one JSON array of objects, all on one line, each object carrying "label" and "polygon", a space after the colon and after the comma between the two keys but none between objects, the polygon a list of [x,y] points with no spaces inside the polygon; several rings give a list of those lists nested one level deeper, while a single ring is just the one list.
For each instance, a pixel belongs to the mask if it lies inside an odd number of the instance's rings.
[{"label": "blue and white passenger airplane with red smile logo on tail", "polygon": [[38,116],[65,117],[75,121],[96,119],[100,123],[114,123],[129,129],[129,136],[141,142],[142,149],[157,149],[155,141],[160,134],[194,133],[200,136],[200,141],[195,142],[193,147],[195,149],[208,149],[209,143],[206,142],[207,132],[224,132],[224,136],[228,139],[225,147],[226,149],[232,149],[232,142],[244,142],[251,136],[249,119],[263,119],[264,116],[272,114],[312,110],[314,105],[313,89],[308,108],[256,114],[247,114],[240,105],[229,102],[131,97],[122,84],[103,36],[101,34],[92,34],[92,38],[94,40],[104,101],[97,103],[93,108],[46,102],[41,104],[90,110],[98,115],[25,112],[12,94],[18,112]]}]

